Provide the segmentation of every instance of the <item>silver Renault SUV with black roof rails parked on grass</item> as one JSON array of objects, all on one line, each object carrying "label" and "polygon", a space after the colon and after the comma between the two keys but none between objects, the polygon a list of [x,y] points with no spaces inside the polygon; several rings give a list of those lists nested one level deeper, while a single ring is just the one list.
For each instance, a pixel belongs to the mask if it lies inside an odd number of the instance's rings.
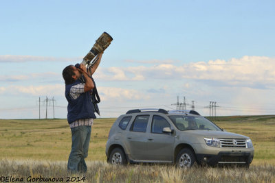
[{"label": "silver Renault SUV with black roof rails parked on grass", "polygon": [[116,119],[105,153],[111,164],[127,162],[240,164],[254,156],[247,136],[225,132],[198,112],[136,109]]}]

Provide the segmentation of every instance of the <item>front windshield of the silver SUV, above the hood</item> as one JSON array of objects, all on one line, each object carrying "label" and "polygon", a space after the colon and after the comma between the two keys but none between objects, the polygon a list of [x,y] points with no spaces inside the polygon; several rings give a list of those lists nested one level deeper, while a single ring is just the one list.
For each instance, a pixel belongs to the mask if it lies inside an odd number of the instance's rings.
[{"label": "front windshield of the silver SUV, above the hood", "polygon": [[187,115],[170,115],[170,120],[175,124],[177,129],[184,130],[214,130],[221,131],[217,125],[208,119],[200,116]]}]

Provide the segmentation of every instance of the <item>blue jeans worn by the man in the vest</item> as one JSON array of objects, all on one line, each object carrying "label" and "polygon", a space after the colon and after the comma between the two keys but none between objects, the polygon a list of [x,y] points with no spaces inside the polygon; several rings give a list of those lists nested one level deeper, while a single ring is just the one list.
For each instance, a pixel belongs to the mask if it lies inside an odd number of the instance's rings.
[{"label": "blue jeans worn by the man in the vest", "polygon": [[71,131],[72,151],[69,154],[67,169],[72,173],[85,173],[87,165],[84,159],[88,156],[91,126],[73,127]]}]

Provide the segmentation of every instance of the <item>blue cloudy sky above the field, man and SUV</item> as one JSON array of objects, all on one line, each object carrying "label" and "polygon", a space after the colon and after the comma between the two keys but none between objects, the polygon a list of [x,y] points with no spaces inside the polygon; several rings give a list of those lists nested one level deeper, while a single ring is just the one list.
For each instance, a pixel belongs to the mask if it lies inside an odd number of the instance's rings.
[{"label": "blue cloudy sky above the field, man and SUV", "polygon": [[[100,116],[135,108],[275,114],[274,1],[0,0],[0,119],[67,118],[62,71],[113,37]],[[46,102],[48,99],[48,102]]]}]

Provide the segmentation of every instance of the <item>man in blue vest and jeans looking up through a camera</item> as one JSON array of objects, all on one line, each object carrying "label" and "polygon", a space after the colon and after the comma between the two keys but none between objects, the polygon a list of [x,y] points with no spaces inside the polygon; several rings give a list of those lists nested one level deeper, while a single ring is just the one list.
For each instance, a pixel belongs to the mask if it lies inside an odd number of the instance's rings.
[{"label": "man in blue vest and jeans looking up through a camera", "polygon": [[[65,97],[68,101],[67,121],[72,132],[72,151],[69,154],[67,169],[72,173],[87,171],[85,158],[88,156],[91,126],[96,119],[91,101],[95,84],[91,76],[98,68],[102,53],[98,53],[98,61],[88,72],[86,67],[80,64],[79,68],[73,65],[66,66],[62,73],[66,86]],[[85,83],[82,81],[82,75]]]}]

